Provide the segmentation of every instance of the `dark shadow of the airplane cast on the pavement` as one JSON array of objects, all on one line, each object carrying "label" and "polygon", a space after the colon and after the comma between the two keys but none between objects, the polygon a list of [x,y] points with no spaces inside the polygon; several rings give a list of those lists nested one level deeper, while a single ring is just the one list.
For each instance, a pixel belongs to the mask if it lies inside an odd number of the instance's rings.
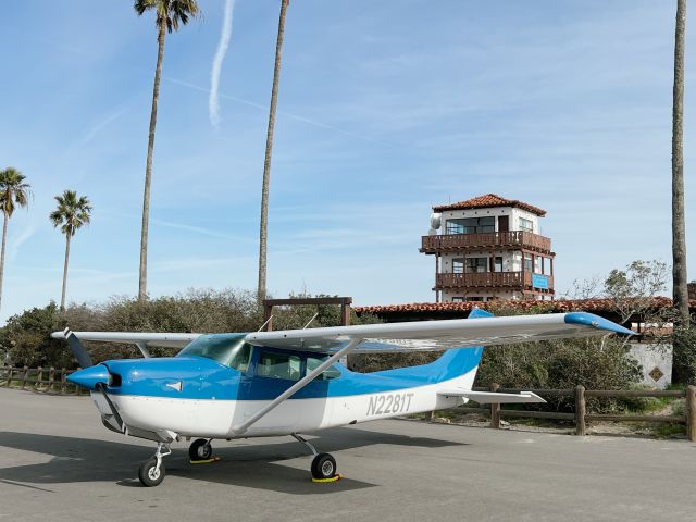
[{"label": "dark shadow of the airplane cast on the pavement", "polygon": [[[369,432],[357,428],[335,428],[312,439],[319,451],[335,452],[375,444],[436,448],[463,446],[462,443],[433,438],[409,437]],[[309,475],[310,453],[295,440],[273,444],[245,444],[214,447],[222,458],[212,464],[190,464],[187,448],[176,448],[165,459],[167,476],[185,477],[294,495],[315,495],[375,487],[377,484],[343,478],[332,487],[318,487]],[[114,482],[121,486],[141,487],[137,469],[154,452],[153,447],[113,443],[109,440],[0,432],[0,447],[52,456],[48,462],[0,468],[0,482],[33,485]],[[307,465],[298,469],[284,460],[307,458]],[[350,456],[346,456],[350,458]],[[338,459],[340,472],[340,458]],[[18,484],[24,485],[24,484]],[[27,486],[32,487],[32,486]],[[166,480],[161,487],[166,487]]]}]

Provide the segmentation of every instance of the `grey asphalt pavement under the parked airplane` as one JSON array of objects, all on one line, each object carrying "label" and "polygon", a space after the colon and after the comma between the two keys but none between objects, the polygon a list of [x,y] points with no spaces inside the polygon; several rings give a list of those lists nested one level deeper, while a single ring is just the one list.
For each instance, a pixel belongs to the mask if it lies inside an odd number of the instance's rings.
[{"label": "grey asphalt pavement under the parked airplane", "polygon": [[153,488],[137,480],[154,444],[107,431],[88,397],[0,388],[0,521],[696,520],[696,445],[575,437],[402,420],[311,442],[344,480],[314,484],[290,437],[187,444]]}]

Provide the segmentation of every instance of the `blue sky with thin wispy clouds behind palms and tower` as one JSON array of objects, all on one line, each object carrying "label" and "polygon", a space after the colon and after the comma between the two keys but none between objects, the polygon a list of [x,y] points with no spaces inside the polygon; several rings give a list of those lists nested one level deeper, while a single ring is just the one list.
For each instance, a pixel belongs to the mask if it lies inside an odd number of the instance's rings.
[{"label": "blue sky with thin wispy clouds behind palms and tower", "polygon": [[[486,192],[548,211],[557,289],[635,259],[671,261],[674,2],[293,0],[270,199],[269,290],[359,304],[434,299],[418,252],[431,206]],[[224,1],[166,40],[149,290],[252,289],[277,0],[237,0],[209,115]],[[60,299],[64,189],[92,224],[72,246],[69,300],[137,293],[151,15],[129,1],[25,0],[0,21],[0,164],[32,183],[10,223],[1,318]],[[694,74],[685,160],[696,278]]]}]

